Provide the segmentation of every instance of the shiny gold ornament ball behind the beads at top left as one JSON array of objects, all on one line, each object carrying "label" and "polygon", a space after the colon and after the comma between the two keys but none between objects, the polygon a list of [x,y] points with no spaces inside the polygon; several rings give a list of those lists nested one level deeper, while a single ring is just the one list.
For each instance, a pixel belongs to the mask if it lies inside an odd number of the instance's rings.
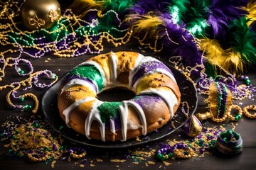
[{"label": "shiny gold ornament ball behind the beads at top left", "polygon": [[56,0],[26,0],[21,6],[21,21],[28,30],[52,28],[60,18]]}]

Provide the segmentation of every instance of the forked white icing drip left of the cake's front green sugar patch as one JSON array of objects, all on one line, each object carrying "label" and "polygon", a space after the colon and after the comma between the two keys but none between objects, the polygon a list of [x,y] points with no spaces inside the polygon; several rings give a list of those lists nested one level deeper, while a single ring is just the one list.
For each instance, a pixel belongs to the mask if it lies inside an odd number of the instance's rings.
[{"label": "forked white icing drip left of the cake's front green sugar patch", "polygon": [[88,139],[90,139],[90,129],[92,122],[94,120],[97,120],[97,122],[100,124],[100,135],[102,138],[102,141],[105,141],[105,123],[102,123],[102,120],[100,119],[100,113],[97,110],[97,107],[100,106],[103,102],[102,101],[96,101],[93,106],[90,113],[87,115],[87,118],[85,120],[85,135]]}]

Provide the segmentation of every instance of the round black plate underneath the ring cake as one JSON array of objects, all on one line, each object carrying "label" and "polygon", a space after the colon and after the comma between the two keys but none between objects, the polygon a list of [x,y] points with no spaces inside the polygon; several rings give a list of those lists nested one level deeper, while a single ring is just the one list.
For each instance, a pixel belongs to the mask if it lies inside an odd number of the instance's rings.
[{"label": "round black plate underneath the ring cake", "polygon": [[[186,79],[186,77],[181,74],[181,72],[178,72],[178,70],[174,69],[171,66],[169,67],[174,73],[174,76],[176,77],[176,81],[180,88],[181,103],[188,103],[188,117],[190,117],[196,111],[198,103],[196,89],[193,86],[192,82],[188,81],[188,79]],[[68,126],[65,125],[65,122],[60,118],[57,104],[57,96],[58,89],[62,80],[63,78],[58,80],[53,86],[50,87],[50,89],[48,89],[48,91],[46,91],[46,94],[44,94],[42,99],[43,114],[46,117],[46,121],[54,130],[59,132],[61,135],[63,135],[63,137],[67,138],[68,140],[77,142],[82,145],[100,148],[121,148],[142,145],[147,142],[153,142],[155,140],[161,139],[162,137],[170,135],[178,128],[181,128],[188,119],[188,117],[185,116],[184,113],[182,113],[181,104],[178,108],[177,114],[174,115],[174,118],[172,120],[166,123],[166,125],[164,125],[162,128],[159,128],[159,130],[150,132],[146,136],[140,136],[140,140],[130,139],[125,142],[102,142],[100,140],[88,140],[87,137],[85,137],[84,135],[80,135],[78,132],[75,132],[75,130],[68,128]],[[186,110],[186,108],[183,110]]]}]

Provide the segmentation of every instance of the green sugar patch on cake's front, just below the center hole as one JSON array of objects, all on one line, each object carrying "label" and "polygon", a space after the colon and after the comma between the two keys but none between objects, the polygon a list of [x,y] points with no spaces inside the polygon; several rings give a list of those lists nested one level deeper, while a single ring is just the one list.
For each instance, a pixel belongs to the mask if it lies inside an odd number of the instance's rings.
[{"label": "green sugar patch on cake's front, just below the center hole", "polygon": [[117,118],[117,114],[119,113],[119,106],[121,106],[121,102],[104,102],[100,106],[98,106],[98,111],[100,113],[100,119],[102,123],[107,122],[107,120]]}]

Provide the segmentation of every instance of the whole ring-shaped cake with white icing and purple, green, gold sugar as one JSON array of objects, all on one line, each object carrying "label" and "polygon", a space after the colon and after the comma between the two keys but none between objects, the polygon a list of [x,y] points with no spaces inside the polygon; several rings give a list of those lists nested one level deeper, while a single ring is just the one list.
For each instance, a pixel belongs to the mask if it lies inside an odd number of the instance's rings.
[{"label": "whole ring-shaped cake with white icing and purple, green, gold sugar", "polygon": [[[115,87],[136,96],[120,102],[97,98]],[[169,67],[137,52],[109,52],[82,62],[65,76],[58,93],[60,116],[68,127],[102,141],[146,135],[173,118],[180,102]]]}]

